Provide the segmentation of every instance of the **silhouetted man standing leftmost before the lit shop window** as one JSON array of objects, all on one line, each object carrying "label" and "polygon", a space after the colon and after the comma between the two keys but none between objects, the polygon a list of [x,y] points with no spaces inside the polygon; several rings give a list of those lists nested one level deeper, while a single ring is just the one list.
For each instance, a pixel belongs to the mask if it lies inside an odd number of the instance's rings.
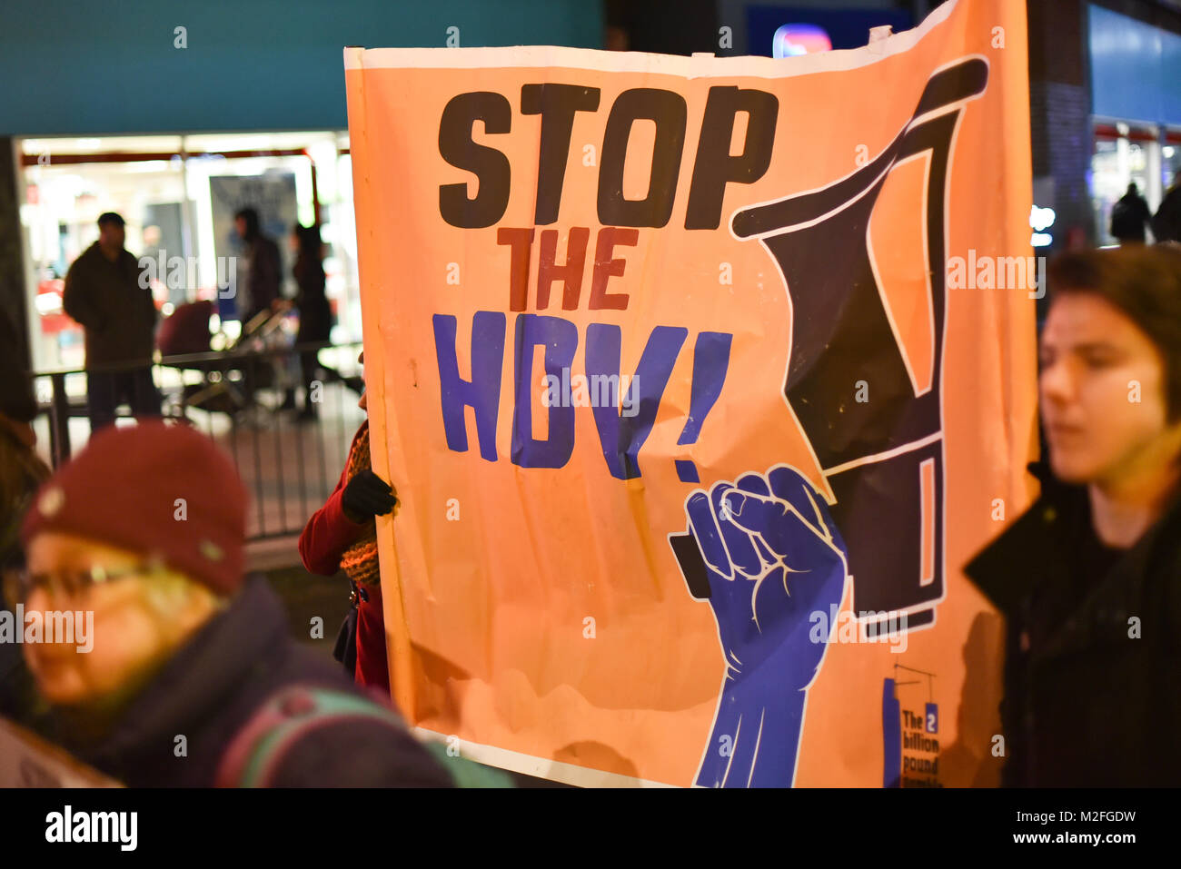
[{"label": "silhouetted man standing leftmost before the lit shop window", "polygon": [[150,367],[156,305],[141,280],[138,260],[123,247],[123,217],[113,211],[98,218],[98,241],[70,266],[61,296],[65,312],[86,334],[91,431],[115,422],[123,400],[137,418],[159,416]]}]

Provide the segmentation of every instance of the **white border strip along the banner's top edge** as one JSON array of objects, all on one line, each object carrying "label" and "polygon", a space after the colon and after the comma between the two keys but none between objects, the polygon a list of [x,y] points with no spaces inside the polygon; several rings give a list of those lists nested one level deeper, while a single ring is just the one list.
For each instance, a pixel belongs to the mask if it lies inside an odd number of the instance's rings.
[{"label": "white border strip along the banner's top edge", "polygon": [[791,78],[816,72],[841,72],[876,64],[909,51],[952,14],[959,0],[947,0],[918,27],[895,33],[873,46],[802,54],[794,58],[730,57],[712,54],[647,54],[644,52],[511,46],[500,48],[345,48],[346,70],[475,70],[570,68],[596,72],[642,72],[684,78]]}]

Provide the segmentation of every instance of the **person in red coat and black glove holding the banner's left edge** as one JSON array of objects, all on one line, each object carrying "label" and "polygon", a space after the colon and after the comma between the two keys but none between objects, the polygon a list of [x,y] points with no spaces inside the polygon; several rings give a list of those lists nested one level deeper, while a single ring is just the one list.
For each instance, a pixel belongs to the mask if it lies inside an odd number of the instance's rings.
[{"label": "person in red coat and black glove holding the banner's left edge", "polygon": [[[361,393],[358,406],[366,407]],[[337,488],[308,520],[299,538],[304,567],[313,574],[332,576],[344,570],[352,584],[354,610],[346,632],[355,621],[352,636],[337,642],[338,660],[348,666],[351,655],[341,651],[355,638],[353,678],[359,685],[390,692],[390,669],[385,656],[385,618],[381,614],[381,576],[377,560],[377,523],[397,503],[389,483],[370,466],[368,420],[361,424],[348,449],[348,460]]]}]

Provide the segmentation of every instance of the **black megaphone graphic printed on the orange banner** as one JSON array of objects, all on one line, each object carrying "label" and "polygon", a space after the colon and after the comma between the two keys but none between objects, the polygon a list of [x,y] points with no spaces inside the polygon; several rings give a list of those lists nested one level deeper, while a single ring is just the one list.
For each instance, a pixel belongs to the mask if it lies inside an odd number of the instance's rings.
[{"label": "black megaphone graphic printed on the orange banner", "polygon": [[[744,208],[738,239],[758,239],[775,257],[792,307],[784,394],[836,497],[831,512],[848,545],[854,613],[908,613],[908,628],[934,620],[944,596],[942,355],[946,319],[945,202],[952,139],[966,102],[988,79],[968,58],[927,81],[914,115],[870,163],[820,190]],[[869,220],[889,172],[926,156],[922,226],[934,326],[929,387],[907,367],[874,275]],[[856,384],[870,400],[854,400]],[[673,550],[700,596],[693,547]]]}]

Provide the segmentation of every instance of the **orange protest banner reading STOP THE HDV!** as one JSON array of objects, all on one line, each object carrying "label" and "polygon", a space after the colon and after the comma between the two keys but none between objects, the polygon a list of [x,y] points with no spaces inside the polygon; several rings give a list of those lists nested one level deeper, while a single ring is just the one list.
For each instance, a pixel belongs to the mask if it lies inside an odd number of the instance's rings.
[{"label": "orange protest banner reading STOP THE HDV!", "polygon": [[961,568],[1031,496],[1024,4],[345,66],[410,723],[576,784],[996,783]]}]

